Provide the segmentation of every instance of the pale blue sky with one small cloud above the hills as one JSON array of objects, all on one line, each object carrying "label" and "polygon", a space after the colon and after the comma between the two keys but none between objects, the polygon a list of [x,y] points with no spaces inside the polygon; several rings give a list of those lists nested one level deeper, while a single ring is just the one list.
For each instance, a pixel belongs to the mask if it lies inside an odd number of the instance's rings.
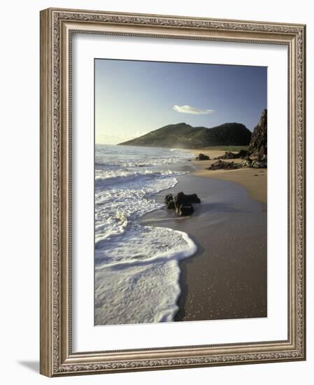
[{"label": "pale blue sky with one small cloud above the hills", "polygon": [[95,59],[95,142],[118,144],[174,123],[257,125],[267,68]]}]

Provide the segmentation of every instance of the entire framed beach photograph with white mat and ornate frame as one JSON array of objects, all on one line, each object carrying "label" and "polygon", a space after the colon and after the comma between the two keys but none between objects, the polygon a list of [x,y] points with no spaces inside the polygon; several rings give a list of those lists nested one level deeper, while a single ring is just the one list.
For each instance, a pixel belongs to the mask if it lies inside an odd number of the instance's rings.
[{"label": "entire framed beach photograph with white mat and ornate frame", "polygon": [[305,37],[41,11],[41,374],[305,360]]}]

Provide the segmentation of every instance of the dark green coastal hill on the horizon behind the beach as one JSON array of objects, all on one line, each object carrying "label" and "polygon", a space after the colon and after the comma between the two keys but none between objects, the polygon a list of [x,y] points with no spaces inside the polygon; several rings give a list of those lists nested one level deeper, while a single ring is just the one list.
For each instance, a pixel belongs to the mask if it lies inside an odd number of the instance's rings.
[{"label": "dark green coastal hill on the horizon behind the beach", "polygon": [[212,128],[186,123],[166,125],[120,146],[164,148],[204,148],[208,146],[248,146],[252,132],[241,123],[224,123]]}]

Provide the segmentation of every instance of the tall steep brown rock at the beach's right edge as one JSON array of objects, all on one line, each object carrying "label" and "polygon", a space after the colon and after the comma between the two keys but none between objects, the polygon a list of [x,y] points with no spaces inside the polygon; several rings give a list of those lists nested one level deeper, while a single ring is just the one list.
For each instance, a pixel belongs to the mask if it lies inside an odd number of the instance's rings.
[{"label": "tall steep brown rock at the beach's right edge", "polygon": [[259,123],[255,127],[248,147],[251,157],[262,161],[267,157],[267,110],[262,113]]}]

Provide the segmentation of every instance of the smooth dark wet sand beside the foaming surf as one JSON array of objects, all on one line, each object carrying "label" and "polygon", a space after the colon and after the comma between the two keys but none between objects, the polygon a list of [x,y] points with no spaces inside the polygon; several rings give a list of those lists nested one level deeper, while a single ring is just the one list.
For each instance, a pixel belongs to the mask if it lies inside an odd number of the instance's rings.
[{"label": "smooth dark wet sand beside the foaming surf", "polygon": [[[189,163],[192,170],[197,167]],[[187,232],[197,244],[197,254],[179,262],[181,295],[175,320],[267,316],[266,204],[252,200],[241,184],[193,172],[180,176],[175,188],[159,193],[157,200],[181,190],[201,198],[192,216],[176,218],[161,209],[141,219],[145,225]]]}]

